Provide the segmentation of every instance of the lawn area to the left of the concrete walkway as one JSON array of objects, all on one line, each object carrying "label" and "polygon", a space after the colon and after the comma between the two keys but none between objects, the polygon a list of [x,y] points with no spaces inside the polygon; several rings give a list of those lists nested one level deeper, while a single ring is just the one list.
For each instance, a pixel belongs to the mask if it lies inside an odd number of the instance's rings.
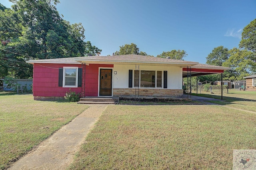
[{"label": "lawn area to the left of the concrete walkway", "polygon": [[87,106],[35,101],[32,95],[0,94],[0,169],[26,154]]}]

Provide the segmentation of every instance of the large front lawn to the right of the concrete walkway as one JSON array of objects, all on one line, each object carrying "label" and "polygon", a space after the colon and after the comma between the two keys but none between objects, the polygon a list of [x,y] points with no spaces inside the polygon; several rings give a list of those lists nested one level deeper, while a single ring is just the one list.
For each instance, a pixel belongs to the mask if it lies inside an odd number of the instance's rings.
[{"label": "large front lawn to the right of the concrete walkway", "polygon": [[108,106],[69,169],[232,169],[256,114],[209,105]]}]

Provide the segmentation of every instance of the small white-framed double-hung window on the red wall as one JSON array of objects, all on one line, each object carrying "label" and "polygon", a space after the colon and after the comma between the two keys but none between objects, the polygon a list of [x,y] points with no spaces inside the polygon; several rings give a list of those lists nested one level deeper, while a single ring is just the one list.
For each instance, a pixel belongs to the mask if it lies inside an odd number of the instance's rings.
[{"label": "small white-framed double-hung window on the red wall", "polygon": [[77,87],[78,85],[78,67],[63,67],[63,86]]}]

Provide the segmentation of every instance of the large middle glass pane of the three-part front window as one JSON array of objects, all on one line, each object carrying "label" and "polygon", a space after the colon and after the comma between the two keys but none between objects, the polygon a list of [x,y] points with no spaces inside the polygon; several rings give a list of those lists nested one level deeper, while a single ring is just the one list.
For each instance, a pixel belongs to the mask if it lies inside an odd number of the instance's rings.
[{"label": "large middle glass pane of the three-part front window", "polygon": [[155,71],[140,71],[140,87],[155,87]]}]

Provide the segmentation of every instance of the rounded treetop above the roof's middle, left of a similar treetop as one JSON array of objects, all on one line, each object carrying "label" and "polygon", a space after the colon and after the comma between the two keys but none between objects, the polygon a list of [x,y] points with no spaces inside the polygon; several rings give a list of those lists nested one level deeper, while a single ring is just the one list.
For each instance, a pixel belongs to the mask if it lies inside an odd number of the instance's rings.
[{"label": "rounded treetop above the roof's middle, left of a similar treetop", "polygon": [[140,49],[134,43],[125,44],[119,47],[120,47],[120,50],[116,51],[114,55],[127,55],[127,54],[147,55],[147,53],[140,51]]}]

